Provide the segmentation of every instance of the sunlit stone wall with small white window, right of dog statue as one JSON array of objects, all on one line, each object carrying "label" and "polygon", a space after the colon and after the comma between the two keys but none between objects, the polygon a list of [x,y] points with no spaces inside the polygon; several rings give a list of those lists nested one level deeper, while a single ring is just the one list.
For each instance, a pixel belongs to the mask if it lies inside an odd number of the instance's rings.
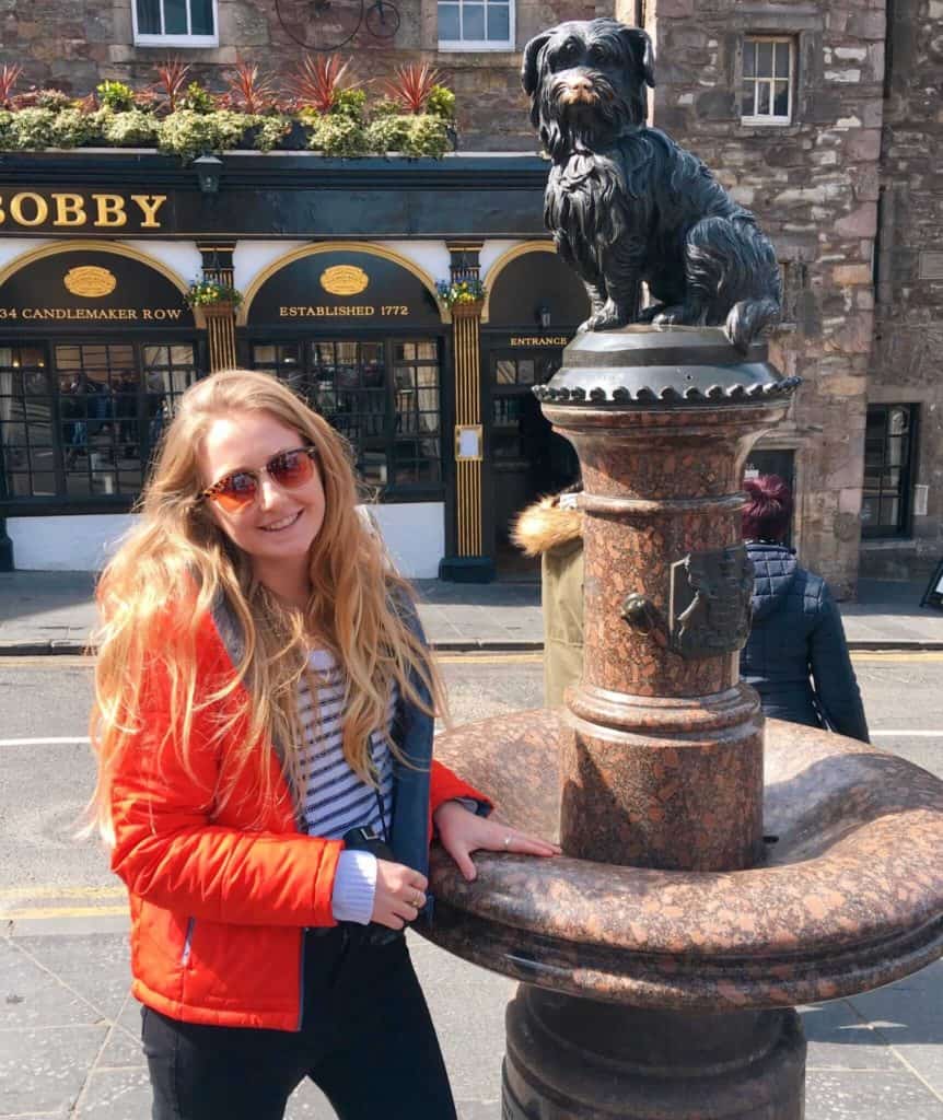
[{"label": "sunlit stone wall with small white window, right of dog statue", "polygon": [[[784,265],[774,354],[804,379],[769,446],[794,447],[804,563],[842,596],[858,568],[867,375],[874,329],[884,0],[654,0],[654,123],[753,209]],[[793,122],[744,125],[743,36],[796,43]]]}]

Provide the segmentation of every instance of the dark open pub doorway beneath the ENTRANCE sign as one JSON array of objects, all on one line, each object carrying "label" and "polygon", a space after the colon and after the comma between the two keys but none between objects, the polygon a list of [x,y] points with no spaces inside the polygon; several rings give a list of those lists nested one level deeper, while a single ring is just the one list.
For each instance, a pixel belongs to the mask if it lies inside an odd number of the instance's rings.
[{"label": "dark open pub doorway beneath the ENTRANCE sign", "polygon": [[555,494],[579,475],[569,440],[558,436],[533,394],[560,368],[561,352],[495,349],[488,370],[488,461],[492,469],[492,523],[498,578],[533,579],[540,561],[511,541],[519,514],[544,494]]}]

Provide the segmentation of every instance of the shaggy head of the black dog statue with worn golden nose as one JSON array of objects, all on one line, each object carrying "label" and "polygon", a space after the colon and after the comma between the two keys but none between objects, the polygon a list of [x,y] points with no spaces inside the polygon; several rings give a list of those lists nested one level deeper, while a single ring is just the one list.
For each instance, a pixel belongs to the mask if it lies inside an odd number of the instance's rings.
[{"label": "shaggy head of the black dog statue with worn golden nose", "polygon": [[591,149],[645,123],[645,86],[655,84],[652,40],[614,19],[560,24],[524,47],[521,83],[551,156]]}]

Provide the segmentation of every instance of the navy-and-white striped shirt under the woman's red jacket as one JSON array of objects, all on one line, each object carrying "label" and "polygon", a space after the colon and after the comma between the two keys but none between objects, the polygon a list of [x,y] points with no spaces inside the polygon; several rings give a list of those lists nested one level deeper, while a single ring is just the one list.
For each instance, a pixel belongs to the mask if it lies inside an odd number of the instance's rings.
[{"label": "navy-and-white striped shirt under the woman's red jacket", "polygon": [[370,737],[377,791],[355,774],[344,757],[343,670],[327,650],[312,651],[309,668],[311,673],[301,678],[298,692],[299,763],[307,831],[309,836],[339,839],[351,829],[366,827],[385,837],[393,809],[393,759],[384,731],[392,727],[396,687],[393,684],[386,704],[386,726]]}]

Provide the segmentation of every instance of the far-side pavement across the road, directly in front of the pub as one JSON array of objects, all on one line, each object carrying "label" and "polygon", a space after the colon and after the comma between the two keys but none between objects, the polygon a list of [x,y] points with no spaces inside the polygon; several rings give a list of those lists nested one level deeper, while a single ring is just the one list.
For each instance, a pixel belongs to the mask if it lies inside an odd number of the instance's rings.
[{"label": "far-side pavement across the road, directly in front of the pub", "polygon": [[[95,625],[91,572],[0,573],[0,656],[82,653]],[[433,647],[527,651],[543,647],[540,584],[417,580],[419,613]],[[943,612],[921,607],[923,582],[862,579],[842,603],[851,650],[943,650]],[[2,1113],[0,1113],[2,1116]]]}]

